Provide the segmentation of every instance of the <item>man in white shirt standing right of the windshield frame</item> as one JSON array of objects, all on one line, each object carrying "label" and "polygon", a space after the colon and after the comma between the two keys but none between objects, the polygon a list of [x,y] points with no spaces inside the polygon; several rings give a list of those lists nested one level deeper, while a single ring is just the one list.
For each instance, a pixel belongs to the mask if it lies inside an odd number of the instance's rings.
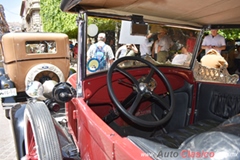
[{"label": "man in white shirt standing right of the windshield frame", "polygon": [[205,49],[205,53],[210,49],[215,49],[221,53],[222,50],[226,49],[225,38],[218,34],[217,29],[211,29],[211,34],[205,36],[203,39],[202,49]]}]

